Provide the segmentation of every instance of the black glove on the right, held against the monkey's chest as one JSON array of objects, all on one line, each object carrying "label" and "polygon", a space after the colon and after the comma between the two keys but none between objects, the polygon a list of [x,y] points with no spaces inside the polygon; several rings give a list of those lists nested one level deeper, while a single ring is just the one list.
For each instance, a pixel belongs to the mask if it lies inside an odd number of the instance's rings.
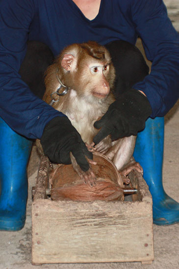
[{"label": "black glove on the right, held against the monkey's chest", "polygon": [[138,90],[130,89],[109,106],[101,120],[94,123],[95,128],[102,129],[93,138],[93,142],[98,144],[109,134],[112,140],[137,135],[145,128],[145,121],[151,113],[147,97]]}]

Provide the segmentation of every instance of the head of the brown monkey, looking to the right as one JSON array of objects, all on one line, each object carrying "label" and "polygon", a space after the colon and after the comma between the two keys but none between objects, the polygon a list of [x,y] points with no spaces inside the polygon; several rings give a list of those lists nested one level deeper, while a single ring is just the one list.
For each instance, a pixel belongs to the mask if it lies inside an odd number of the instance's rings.
[{"label": "head of the brown monkey, looking to the right", "polygon": [[74,44],[60,56],[62,81],[78,97],[102,102],[108,96],[115,78],[114,67],[105,47],[96,42]]}]

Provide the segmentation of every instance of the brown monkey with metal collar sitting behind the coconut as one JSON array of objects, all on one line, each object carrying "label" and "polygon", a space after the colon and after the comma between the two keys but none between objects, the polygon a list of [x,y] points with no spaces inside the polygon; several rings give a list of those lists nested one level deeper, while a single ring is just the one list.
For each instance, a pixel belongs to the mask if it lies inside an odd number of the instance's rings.
[{"label": "brown monkey with metal collar sitting behind the coconut", "polygon": [[[108,135],[99,144],[93,143],[93,137],[99,132],[94,123],[115,101],[112,91],[114,81],[115,69],[104,46],[94,41],[72,44],[67,46],[48,67],[43,100],[70,119],[90,151],[104,154],[114,162],[119,172],[124,169],[126,177],[132,168],[142,171],[140,164],[135,163],[132,158],[136,136],[131,135],[112,141]],[[63,95],[65,91],[68,92]],[[59,97],[60,94],[63,96]],[[39,143],[37,145],[40,148]],[[42,149],[40,151],[42,152]],[[73,155],[71,161],[84,183],[93,187],[96,178],[92,169],[82,171]],[[91,160],[88,161],[96,164]],[[128,169],[129,163],[131,168]]]}]

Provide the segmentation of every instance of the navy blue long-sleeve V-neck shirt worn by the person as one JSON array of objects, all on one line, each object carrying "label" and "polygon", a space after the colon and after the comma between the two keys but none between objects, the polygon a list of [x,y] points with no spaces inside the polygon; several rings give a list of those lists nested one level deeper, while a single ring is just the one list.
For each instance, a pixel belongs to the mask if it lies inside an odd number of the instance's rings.
[{"label": "navy blue long-sleeve V-neck shirt worn by the person", "polygon": [[19,134],[40,138],[47,122],[62,115],[34,96],[18,74],[27,40],[47,44],[56,56],[76,42],[135,44],[138,36],[153,64],[133,88],[146,94],[151,117],[163,116],[179,97],[179,34],[162,0],[101,0],[91,21],[72,0],[0,0],[0,116]]}]

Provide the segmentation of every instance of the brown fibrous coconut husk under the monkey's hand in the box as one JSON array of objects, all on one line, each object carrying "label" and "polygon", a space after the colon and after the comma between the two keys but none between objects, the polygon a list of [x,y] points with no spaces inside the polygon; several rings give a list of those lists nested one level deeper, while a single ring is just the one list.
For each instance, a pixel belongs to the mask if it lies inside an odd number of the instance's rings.
[{"label": "brown fibrous coconut husk under the monkey's hand in the box", "polygon": [[51,176],[51,199],[73,201],[124,201],[123,181],[114,163],[102,154],[94,153],[96,165],[91,167],[96,175],[96,186],[84,184],[73,166],[60,165]]}]

